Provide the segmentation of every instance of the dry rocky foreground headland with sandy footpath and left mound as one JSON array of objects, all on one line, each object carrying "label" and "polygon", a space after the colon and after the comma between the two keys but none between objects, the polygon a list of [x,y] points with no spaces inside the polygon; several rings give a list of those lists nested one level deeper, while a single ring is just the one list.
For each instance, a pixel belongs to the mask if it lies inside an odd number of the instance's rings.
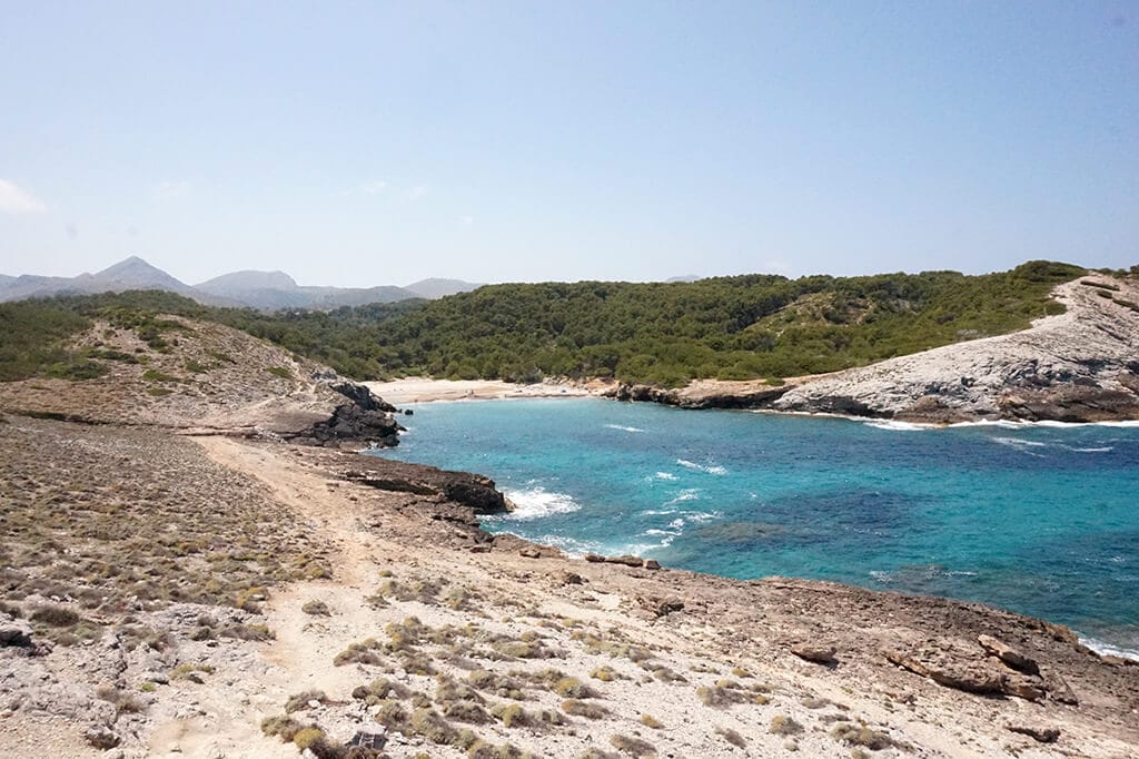
[{"label": "dry rocky foreground headland with sandy footpath and left mound", "polygon": [[338,409],[395,424],[383,401],[239,333],[183,326],[164,350],[133,330],[85,335],[147,357],[117,382],[0,386],[2,756],[1139,745],[1139,666],[1063,627],[490,534],[480,516],[509,507],[493,482],[344,449],[386,435],[341,426]]}]

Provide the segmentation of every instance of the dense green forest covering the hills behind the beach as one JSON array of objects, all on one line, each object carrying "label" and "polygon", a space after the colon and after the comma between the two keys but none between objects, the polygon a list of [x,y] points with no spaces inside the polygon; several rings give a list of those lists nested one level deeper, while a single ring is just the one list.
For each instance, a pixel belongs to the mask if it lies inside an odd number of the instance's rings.
[{"label": "dense green forest covering the hills behind the beach", "polygon": [[62,297],[0,307],[0,377],[58,362],[59,340],[90,318],[166,312],[228,324],[357,378],[781,378],[1026,327],[1063,310],[1049,292],[1083,271],[1032,261],[984,276],[491,285],[429,302],[271,315],[156,292]]}]

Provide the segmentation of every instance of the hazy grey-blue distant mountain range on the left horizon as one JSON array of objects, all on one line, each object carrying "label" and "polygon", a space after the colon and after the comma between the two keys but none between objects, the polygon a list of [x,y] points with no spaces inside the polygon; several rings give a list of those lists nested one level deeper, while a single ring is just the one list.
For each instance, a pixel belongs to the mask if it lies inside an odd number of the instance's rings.
[{"label": "hazy grey-blue distant mountain range on the left horizon", "polygon": [[278,309],[335,309],[342,305],[391,303],[413,297],[436,299],[481,287],[460,279],[423,279],[405,287],[318,287],[296,284],[284,271],[233,271],[187,285],[162,269],[132,255],[118,263],[77,277],[0,275],[0,302],[64,294],[93,294],[124,289],[162,289],[206,305]]}]

